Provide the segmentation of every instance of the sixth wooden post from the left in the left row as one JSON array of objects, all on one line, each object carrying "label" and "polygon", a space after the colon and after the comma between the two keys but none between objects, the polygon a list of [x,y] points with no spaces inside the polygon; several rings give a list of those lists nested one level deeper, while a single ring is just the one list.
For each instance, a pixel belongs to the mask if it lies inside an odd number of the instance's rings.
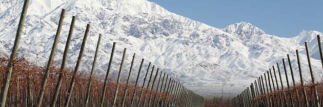
[{"label": "sixth wooden post from the left in the left row", "polygon": [[103,103],[104,103],[104,100],[105,100],[105,97],[106,97],[106,90],[107,90],[107,85],[108,85],[108,77],[109,77],[109,73],[110,73],[110,69],[111,69],[111,64],[112,64],[112,59],[113,59],[113,55],[114,55],[115,45],[116,45],[116,43],[113,42],[111,56],[110,56],[109,65],[108,65],[108,70],[107,70],[106,78],[104,79],[104,86],[103,86],[102,95],[101,95],[102,98],[101,98],[101,101],[100,101],[100,107],[103,107]]}]

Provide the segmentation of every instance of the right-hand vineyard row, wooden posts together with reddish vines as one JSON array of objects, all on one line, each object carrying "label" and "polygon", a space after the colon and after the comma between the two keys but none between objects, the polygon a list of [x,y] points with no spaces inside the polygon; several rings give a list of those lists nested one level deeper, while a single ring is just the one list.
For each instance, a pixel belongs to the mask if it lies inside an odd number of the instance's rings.
[{"label": "right-hand vineyard row, wooden posts together with reddish vines", "polygon": [[[319,55],[321,59],[321,64],[323,67],[323,55],[321,49],[320,36],[317,35]],[[295,82],[294,72],[292,68],[291,58],[287,55],[287,61],[282,59],[282,64],[284,65],[285,79],[287,87],[284,87],[282,78],[284,75],[281,75],[279,64],[276,63],[275,66],[269,68],[267,73],[260,75],[254,83],[245,89],[238,96],[232,98],[234,106],[316,106],[319,107],[323,104],[323,81],[316,82],[314,72],[312,70],[308,44],[305,42],[305,48],[307,53],[307,62],[311,74],[311,81],[306,81],[302,77],[302,66],[300,64],[300,58],[298,55],[298,50],[296,50],[296,59],[297,66],[300,76],[300,83]],[[287,66],[285,63],[288,63],[292,85],[289,83],[289,77],[287,75]],[[278,71],[278,76],[276,76],[276,71]],[[267,76],[266,76],[267,75]],[[279,77],[279,79],[278,79]],[[279,87],[279,84],[281,87]]]}]

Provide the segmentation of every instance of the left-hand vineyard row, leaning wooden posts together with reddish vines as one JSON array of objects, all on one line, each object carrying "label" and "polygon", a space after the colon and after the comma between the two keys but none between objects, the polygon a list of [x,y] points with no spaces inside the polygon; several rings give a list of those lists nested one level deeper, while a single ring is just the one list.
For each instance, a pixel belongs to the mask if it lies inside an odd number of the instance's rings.
[{"label": "left-hand vineyard row, leaning wooden posts together with reddish vines", "polygon": [[[127,48],[124,48],[123,51],[117,81],[112,81],[109,78],[109,73],[111,72],[116,43],[113,43],[105,79],[96,77],[94,71],[101,34],[99,34],[96,45],[91,73],[85,75],[84,72],[87,71],[80,71],[79,66],[84,55],[90,24],[87,24],[76,66],[66,68],[69,44],[76,20],[75,16],[72,16],[62,64],[60,68],[53,66],[53,59],[65,18],[65,9],[62,9],[60,14],[47,66],[37,66],[24,58],[17,58],[16,54],[19,50],[28,6],[29,0],[25,0],[10,58],[0,58],[1,106],[203,106],[203,97],[181,85],[180,82],[176,82],[167,72],[159,71],[159,68],[155,68],[152,63],[149,63],[147,70],[143,69],[144,59],[142,59],[137,71],[135,84],[130,84],[135,53],[130,69],[127,70],[129,71],[127,83],[121,83],[120,74],[123,71]],[[142,78],[139,78],[141,72],[145,72],[143,85],[138,84],[139,79],[142,81]],[[148,76],[149,72],[151,73]]]}]

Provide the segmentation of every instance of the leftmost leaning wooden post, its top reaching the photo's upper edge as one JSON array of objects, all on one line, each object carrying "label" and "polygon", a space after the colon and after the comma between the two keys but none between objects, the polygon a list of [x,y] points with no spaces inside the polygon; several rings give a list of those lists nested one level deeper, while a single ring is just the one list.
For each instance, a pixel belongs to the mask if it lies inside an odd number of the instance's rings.
[{"label": "leftmost leaning wooden post, its top reaching the photo's upper edge", "polygon": [[27,10],[28,10],[28,6],[29,6],[29,0],[25,0],[24,1],[24,6],[23,6],[23,10],[20,16],[20,20],[18,23],[18,29],[17,29],[17,33],[16,33],[16,37],[14,39],[14,44],[13,44],[13,48],[11,51],[11,55],[10,55],[10,60],[8,62],[7,65],[7,72],[6,72],[6,76],[4,76],[4,83],[2,86],[2,90],[1,90],[1,97],[0,100],[2,104],[0,104],[1,107],[4,107],[6,105],[6,99],[7,99],[7,94],[8,94],[8,89],[10,86],[10,79],[11,79],[11,74],[12,74],[12,68],[13,68],[13,61],[16,58],[17,52],[19,50],[19,44],[20,44],[20,39],[21,39],[21,35],[23,32],[23,28],[24,28],[24,23],[25,23],[25,18],[27,15]]}]

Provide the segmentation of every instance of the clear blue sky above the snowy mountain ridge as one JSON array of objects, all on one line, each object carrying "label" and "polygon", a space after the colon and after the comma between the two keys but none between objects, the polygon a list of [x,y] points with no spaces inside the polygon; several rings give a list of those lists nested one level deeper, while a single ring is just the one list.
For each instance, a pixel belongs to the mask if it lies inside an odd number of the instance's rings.
[{"label": "clear blue sky above the snowy mountain ridge", "polygon": [[301,30],[323,32],[322,0],[148,0],[170,12],[225,28],[250,22],[267,34],[294,37]]}]

